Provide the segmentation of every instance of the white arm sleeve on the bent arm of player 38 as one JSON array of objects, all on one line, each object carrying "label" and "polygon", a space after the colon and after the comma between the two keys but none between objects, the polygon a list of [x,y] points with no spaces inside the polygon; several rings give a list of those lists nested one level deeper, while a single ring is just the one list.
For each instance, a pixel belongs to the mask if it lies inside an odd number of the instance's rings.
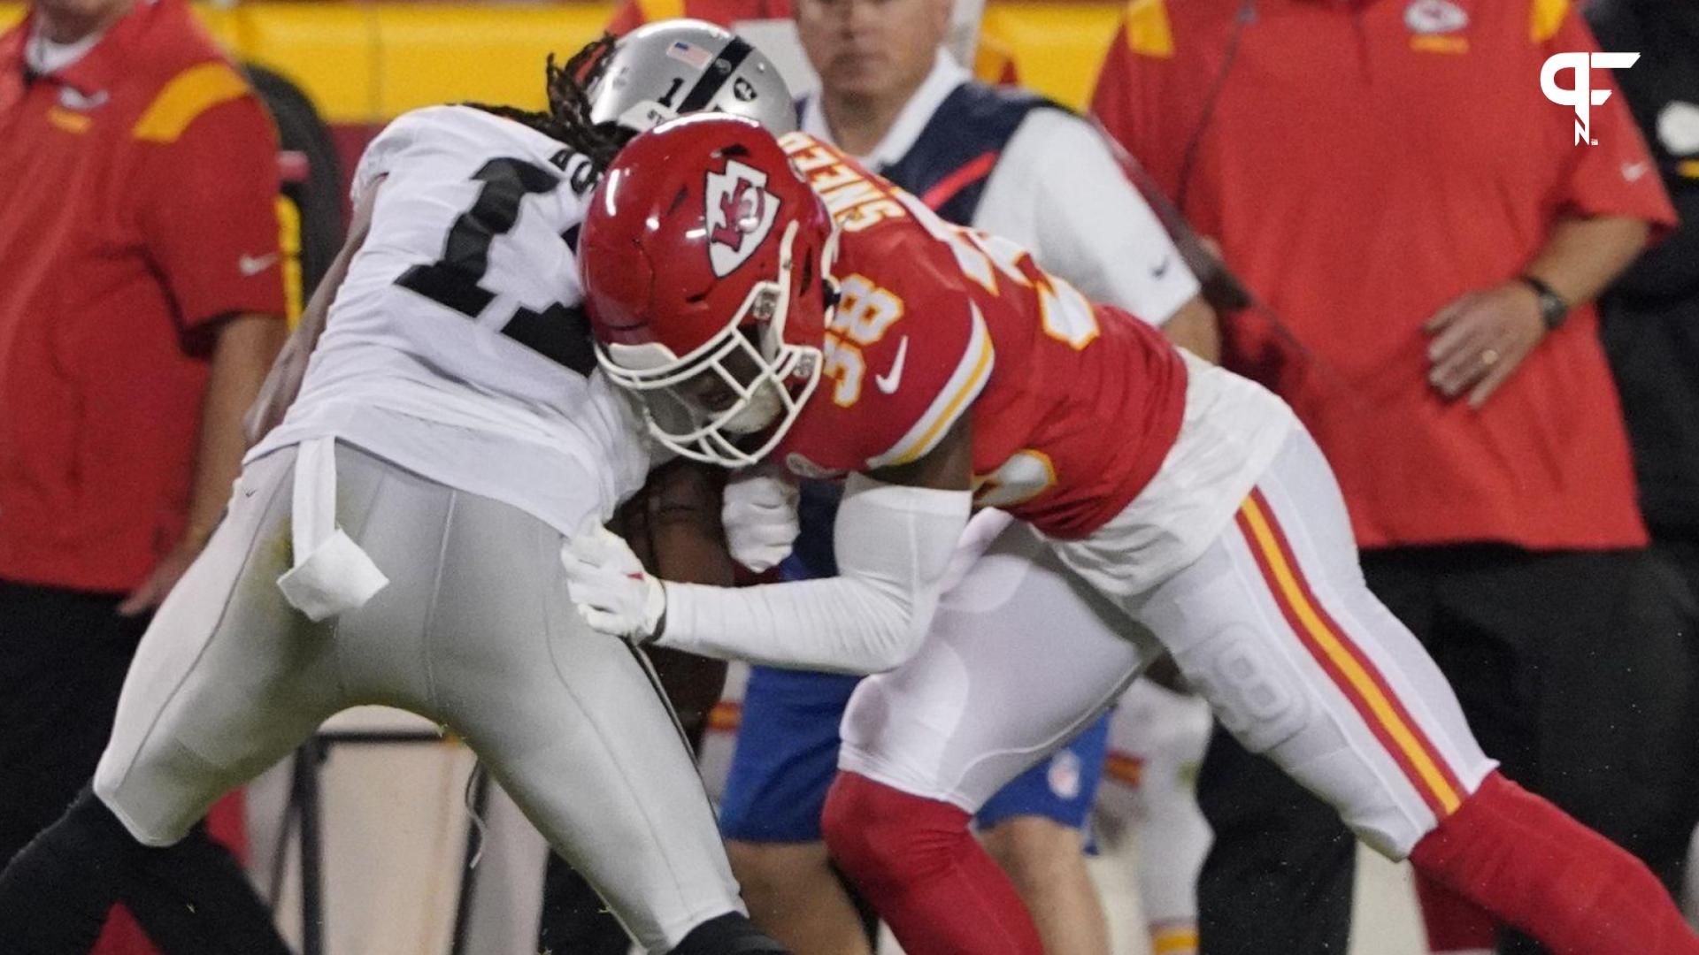
[{"label": "white arm sleeve on the bent arm of player 38", "polygon": [[838,576],[720,588],[666,585],[659,646],[766,666],[878,673],[926,639],[972,496],[853,474],[838,508]]}]

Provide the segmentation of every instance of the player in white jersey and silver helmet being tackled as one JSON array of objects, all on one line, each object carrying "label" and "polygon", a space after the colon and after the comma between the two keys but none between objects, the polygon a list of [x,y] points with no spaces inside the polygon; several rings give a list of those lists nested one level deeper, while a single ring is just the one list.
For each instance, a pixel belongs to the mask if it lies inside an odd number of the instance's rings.
[{"label": "player in white jersey and silver helmet being tackled", "polygon": [[[0,950],[87,952],[217,797],[386,704],[462,736],[647,952],[782,952],[744,916],[647,661],[574,612],[559,551],[651,466],[578,308],[590,187],[678,112],[795,114],[708,24],[603,61],[608,42],[550,59],[547,112],[428,107],[370,144],[348,243],[257,415],[287,416],[143,639],[92,788],[0,875]],[[233,952],[216,923],[207,952]]]}]

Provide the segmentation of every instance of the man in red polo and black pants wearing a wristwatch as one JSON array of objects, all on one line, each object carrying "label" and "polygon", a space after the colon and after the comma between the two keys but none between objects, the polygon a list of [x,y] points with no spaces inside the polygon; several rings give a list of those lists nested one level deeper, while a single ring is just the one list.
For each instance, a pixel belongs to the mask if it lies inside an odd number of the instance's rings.
[{"label": "man in red polo and black pants wearing a wristwatch", "polygon": [[[1619,93],[1577,143],[1541,92],[1594,49],[1561,0],[1133,0],[1094,110],[1284,321],[1225,321],[1223,364],[1315,433],[1487,753],[1674,879],[1691,673],[1590,304],[1674,212]],[[1199,800],[1201,952],[1346,952],[1334,814],[1222,732]]]}]

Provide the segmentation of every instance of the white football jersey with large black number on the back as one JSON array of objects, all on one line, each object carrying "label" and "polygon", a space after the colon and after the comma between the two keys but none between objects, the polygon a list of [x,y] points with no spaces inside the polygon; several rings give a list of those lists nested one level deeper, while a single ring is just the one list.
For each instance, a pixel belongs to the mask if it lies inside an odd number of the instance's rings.
[{"label": "white football jersey with large black number on the back", "polygon": [[372,226],[301,396],[257,447],[335,437],[573,534],[649,466],[630,401],[595,370],[578,263],[591,168],[520,122],[459,105],[367,148]]}]

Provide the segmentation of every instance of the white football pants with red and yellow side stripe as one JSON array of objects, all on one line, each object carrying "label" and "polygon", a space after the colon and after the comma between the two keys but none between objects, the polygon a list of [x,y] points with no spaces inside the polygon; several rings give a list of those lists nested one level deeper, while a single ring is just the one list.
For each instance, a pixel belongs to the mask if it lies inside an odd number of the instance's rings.
[{"label": "white football pants with red and yellow side stripe", "polygon": [[856,688],[839,766],[975,812],[1167,647],[1216,719],[1403,858],[1493,768],[1369,593],[1344,500],[1295,428],[1201,557],[1137,588],[1116,528],[1006,523],[919,654]]}]

